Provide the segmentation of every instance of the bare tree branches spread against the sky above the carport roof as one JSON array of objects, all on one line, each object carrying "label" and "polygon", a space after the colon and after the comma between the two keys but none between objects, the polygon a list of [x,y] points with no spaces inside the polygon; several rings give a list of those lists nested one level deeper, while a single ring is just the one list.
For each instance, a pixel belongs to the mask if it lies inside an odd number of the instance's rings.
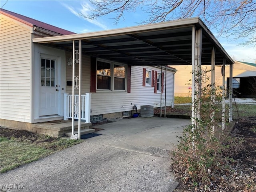
[{"label": "bare tree branches spread against the sky above the carport roof", "polygon": [[91,14],[80,15],[97,19],[114,14],[115,24],[125,20],[126,12],[141,9],[148,19],[140,24],[164,22],[199,16],[210,29],[221,36],[249,38],[243,44],[256,46],[256,1],[255,0],[90,0]]}]

